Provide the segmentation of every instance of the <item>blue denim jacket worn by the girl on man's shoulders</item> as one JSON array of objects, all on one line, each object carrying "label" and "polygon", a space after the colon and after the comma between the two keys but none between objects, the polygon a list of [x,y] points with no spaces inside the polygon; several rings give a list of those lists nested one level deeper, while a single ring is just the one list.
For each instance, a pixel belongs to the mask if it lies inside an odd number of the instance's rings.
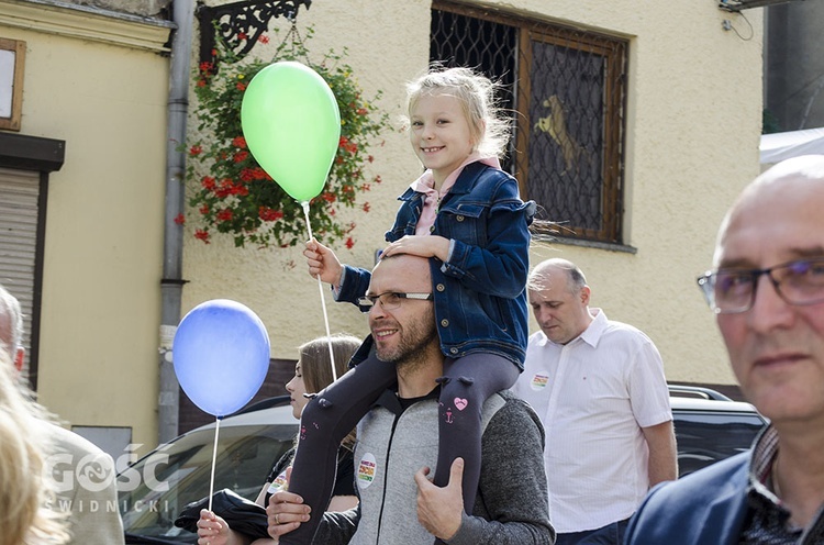
[{"label": "blue denim jacket worn by the girl on man's shoulders", "polygon": [[[423,193],[408,189],[388,242],[413,235]],[[430,258],[441,351],[459,358],[503,356],[523,370],[528,337],[526,277],[535,203],[519,197],[517,180],[481,163],[464,168],[438,207],[433,235],[450,240],[448,259]],[[338,301],[355,303],[371,272],[346,266]]]}]

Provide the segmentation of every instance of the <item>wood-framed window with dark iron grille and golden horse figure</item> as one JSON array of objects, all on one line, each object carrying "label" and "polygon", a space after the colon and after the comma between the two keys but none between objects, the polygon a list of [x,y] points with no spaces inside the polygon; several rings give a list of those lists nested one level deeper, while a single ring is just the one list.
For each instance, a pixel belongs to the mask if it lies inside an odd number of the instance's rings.
[{"label": "wood-framed window with dark iron grille and golden horse figure", "polygon": [[430,59],[502,86],[504,168],[559,236],[623,244],[625,40],[435,0]]}]

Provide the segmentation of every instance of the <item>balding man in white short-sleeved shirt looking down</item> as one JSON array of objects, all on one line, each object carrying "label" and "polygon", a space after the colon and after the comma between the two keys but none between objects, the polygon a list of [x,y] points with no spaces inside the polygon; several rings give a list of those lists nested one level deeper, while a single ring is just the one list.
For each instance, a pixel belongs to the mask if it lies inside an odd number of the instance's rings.
[{"label": "balding man in white short-sleeved shirt looking down", "polygon": [[678,475],[660,354],[590,308],[587,280],[566,259],[538,264],[527,289],[541,331],[512,390],[546,427],[556,545],[620,544],[649,488]]}]

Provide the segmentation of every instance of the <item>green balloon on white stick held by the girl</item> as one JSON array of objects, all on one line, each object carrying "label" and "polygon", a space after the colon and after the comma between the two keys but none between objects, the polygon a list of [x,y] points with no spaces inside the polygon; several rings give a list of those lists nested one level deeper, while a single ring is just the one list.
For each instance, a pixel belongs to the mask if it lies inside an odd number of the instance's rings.
[{"label": "green balloon on white stick held by the girl", "polygon": [[252,155],[298,201],[318,197],[341,140],[341,112],[332,89],[293,60],[267,66],[249,82],[241,125]]}]

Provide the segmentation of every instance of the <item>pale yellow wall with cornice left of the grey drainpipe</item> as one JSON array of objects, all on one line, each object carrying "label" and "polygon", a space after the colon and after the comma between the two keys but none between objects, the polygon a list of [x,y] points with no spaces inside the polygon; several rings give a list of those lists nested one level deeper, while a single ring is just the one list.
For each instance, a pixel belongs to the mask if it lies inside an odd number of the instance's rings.
[{"label": "pale yellow wall with cornice left of the grey drainpipe", "polygon": [[21,134],[64,140],[49,177],[40,401],[73,426],[157,436],[170,27],[0,0],[26,42]]}]

